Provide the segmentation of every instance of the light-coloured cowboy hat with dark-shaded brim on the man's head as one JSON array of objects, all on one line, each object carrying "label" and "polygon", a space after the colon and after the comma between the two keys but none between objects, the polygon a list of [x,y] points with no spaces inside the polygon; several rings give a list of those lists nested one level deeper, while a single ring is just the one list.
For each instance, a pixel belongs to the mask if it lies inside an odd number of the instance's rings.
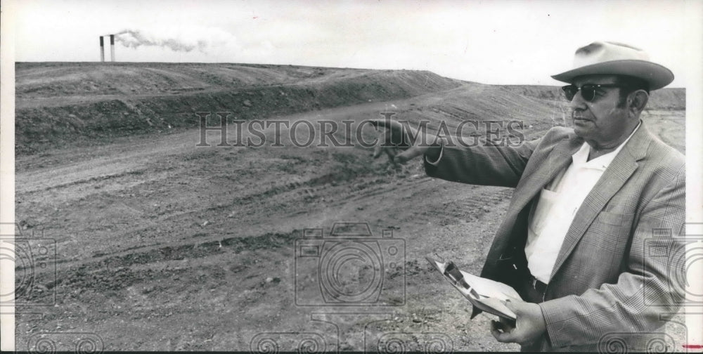
[{"label": "light-coloured cowboy hat with dark-shaded brim on the man's head", "polygon": [[574,69],[553,78],[570,84],[574,77],[591,74],[638,77],[650,84],[650,90],[661,89],[673,81],[671,70],[652,63],[642,49],[609,41],[595,41],[576,49]]}]

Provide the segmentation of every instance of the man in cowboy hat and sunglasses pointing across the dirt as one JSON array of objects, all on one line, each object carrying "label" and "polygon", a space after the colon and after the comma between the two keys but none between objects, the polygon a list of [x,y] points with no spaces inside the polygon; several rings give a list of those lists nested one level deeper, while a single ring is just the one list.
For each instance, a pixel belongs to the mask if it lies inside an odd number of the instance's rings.
[{"label": "man in cowboy hat and sunglasses pointing across the dirt", "polygon": [[614,339],[647,350],[662,332],[659,314],[682,299],[670,277],[683,268],[672,255],[683,247],[684,156],[640,120],[650,90],[673,74],[638,48],[595,42],[553,78],[570,84],[574,128],[520,147],[413,145],[399,122],[377,124],[389,128],[385,138],[404,139],[396,162],[424,155],[429,176],[515,188],[482,270],[524,299],[506,303],[515,327],[491,324],[498,341],[596,351]]}]

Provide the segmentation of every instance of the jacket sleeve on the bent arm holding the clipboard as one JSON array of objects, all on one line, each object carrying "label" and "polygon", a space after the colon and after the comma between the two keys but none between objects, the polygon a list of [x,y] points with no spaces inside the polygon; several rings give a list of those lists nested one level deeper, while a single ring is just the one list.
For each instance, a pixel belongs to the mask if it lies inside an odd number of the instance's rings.
[{"label": "jacket sleeve on the bent arm holding the clipboard", "polygon": [[685,166],[642,209],[626,269],[615,284],[540,304],[552,346],[598,343],[605,334],[651,332],[683,302]]}]

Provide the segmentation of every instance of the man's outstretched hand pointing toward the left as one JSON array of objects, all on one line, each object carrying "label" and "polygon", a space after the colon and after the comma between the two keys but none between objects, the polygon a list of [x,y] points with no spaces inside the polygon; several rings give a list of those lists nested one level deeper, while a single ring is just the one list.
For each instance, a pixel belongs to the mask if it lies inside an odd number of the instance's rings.
[{"label": "man's outstretched hand pointing toward the left", "polygon": [[423,131],[418,132],[393,119],[373,119],[370,122],[377,128],[385,128],[378,133],[378,144],[373,149],[374,159],[385,153],[393,164],[404,164],[424,155],[429,148],[427,142],[430,140]]}]

